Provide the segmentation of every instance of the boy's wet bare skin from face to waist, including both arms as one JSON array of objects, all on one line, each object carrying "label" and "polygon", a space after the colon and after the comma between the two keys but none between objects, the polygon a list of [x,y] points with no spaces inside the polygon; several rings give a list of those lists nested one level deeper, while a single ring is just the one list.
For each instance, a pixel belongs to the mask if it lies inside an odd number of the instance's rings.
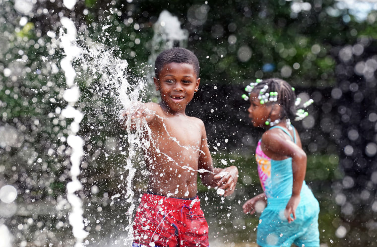
[{"label": "boy's wet bare skin from face to waist, including both arms", "polygon": [[[193,66],[188,63],[168,63],[158,78],[154,78],[161,102],[138,103],[137,110],[126,116],[144,118],[151,130],[151,145],[146,152],[149,171],[148,190],[172,197],[190,198],[197,192],[198,170],[204,185],[219,186],[225,196],[234,192],[238,170],[231,166],[214,168],[207,136],[201,120],[186,115],[186,107],[198,90]],[[145,138],[148,138],[145,136]],[[220,172],[227,175],[220,176]]]}]

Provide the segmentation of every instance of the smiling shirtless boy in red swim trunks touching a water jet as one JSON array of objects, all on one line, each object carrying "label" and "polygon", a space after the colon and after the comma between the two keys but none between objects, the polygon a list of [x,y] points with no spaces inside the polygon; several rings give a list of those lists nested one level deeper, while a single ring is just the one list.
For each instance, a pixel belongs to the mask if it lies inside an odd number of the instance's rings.
[{"label": "smiling shirtless boy in red swim trunks touching a water jet", "polygon": [[208,224],[196,195],[198,172],[204,185],[218,186],[224,196],[236,187],[237,168],[213,167],[203,122],[185,113],[198,90],[198,75],[199,62],[192,52],[162,52],[153,78],[161,102],[138,103],[136,110],[126,112],[132,123],[143,118],[151,136],[145,153],[148,189],[134,218],[133,247],[208,247]]}]

